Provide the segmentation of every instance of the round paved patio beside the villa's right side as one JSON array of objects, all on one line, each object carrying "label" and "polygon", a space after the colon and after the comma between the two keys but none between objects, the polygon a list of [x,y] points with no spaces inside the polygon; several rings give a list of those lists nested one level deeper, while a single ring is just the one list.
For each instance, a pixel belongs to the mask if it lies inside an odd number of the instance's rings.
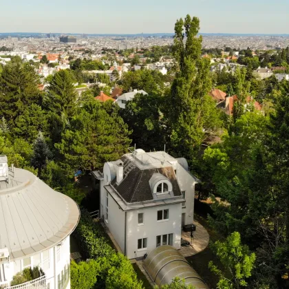
[{"label": "round paved patio beside the villa's right side", "polygon": [[182,239],[185,239],[191,244],[191,246],[188,247],[181,247],[180,253],[182,253],[184,257],[202,252],[202,250],[208,246],[208,241],[210,239],[208,232],[199,222],[194,221],[193,224],[195,224],[196,227],[193,232],[193,239],[191,239],[191,232],[182,231]]}]

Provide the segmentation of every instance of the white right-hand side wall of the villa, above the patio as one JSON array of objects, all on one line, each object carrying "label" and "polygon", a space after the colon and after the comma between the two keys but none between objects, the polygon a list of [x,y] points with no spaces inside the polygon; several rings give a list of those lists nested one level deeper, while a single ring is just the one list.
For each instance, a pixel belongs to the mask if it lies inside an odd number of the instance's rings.
[{"label": "white right-hand side wall of the villa, above the patio", "polygon": [[184,224],[192,224],[193,206],[195,202],[195,180],[180,164],[177,165],[177,180],[181,191],[186,192],[186,207],[182,208],[182,213],[186,214]]}]

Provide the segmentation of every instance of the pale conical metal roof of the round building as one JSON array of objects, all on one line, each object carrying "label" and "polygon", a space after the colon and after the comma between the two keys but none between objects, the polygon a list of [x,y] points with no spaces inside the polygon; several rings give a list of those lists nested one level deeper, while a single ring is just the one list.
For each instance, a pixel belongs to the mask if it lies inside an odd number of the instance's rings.
[{"label": "pale conical metal roof of the round building", "polygon": [[79,217],[74,200],[30,171],[9,169],[8,180],[0,181],[0,249],[8,248],[10,259],[56,246],[74,231]]}]

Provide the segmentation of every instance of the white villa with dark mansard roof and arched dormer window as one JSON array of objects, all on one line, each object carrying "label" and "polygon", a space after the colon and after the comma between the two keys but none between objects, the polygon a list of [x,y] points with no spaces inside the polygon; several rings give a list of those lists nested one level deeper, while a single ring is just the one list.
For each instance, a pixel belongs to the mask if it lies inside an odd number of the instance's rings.
[{"label": "white villa with dark mansard roof and arched dormer window", "polygon": [[162,245],[180,249],[198,182],[184,158],[136,149],[93,175],[100,180],[100,216],[124,255],[143,257]]}]

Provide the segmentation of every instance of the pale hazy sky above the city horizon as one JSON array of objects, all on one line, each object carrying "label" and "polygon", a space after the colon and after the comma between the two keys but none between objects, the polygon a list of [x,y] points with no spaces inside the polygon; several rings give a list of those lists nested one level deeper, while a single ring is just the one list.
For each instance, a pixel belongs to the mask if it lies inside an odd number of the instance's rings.
[{"label": "pale hazy sky above the city horizon", "polygon": [[173,32],[186,14],[200,32],[289,34],[289,0],[0,0],[0,32]]}]

